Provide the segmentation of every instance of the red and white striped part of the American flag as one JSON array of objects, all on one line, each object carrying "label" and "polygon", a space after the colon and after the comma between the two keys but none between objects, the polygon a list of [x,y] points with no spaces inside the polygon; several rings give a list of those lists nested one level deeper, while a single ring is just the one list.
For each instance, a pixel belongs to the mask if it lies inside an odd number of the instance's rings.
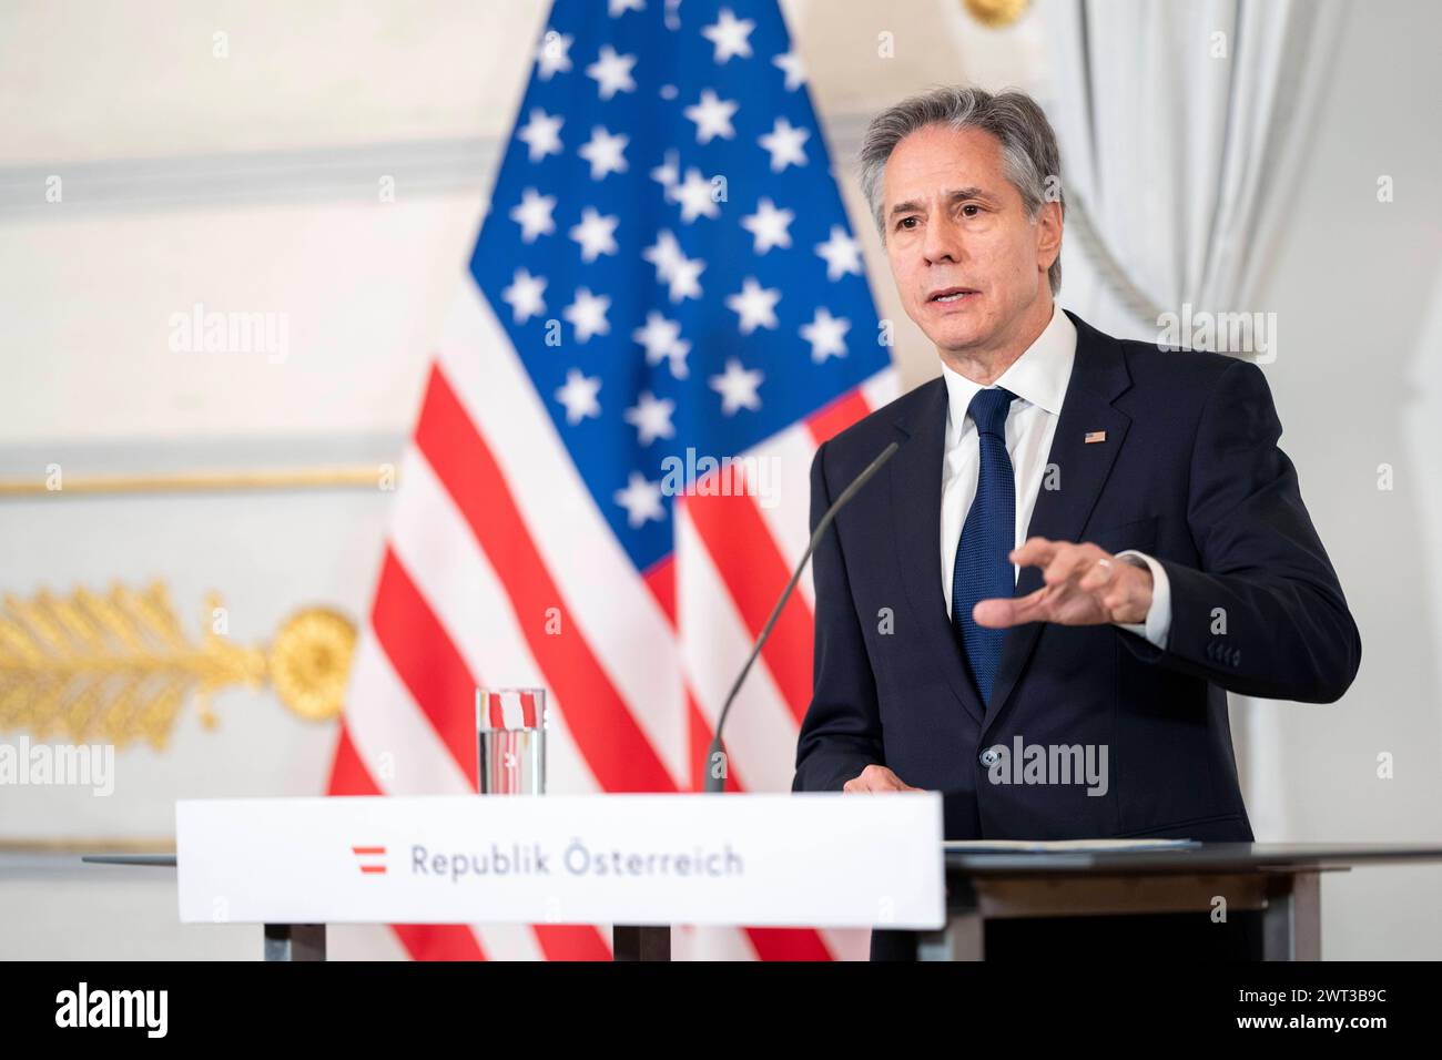
[{"label": "red and white striped part of the American flag", "polygon": [[[809,536],[818,444],[894,395],[887,371],[758,446],[763,496],[689,496],[637,577],[467,275],[405,454],[329,793],[476,790],[474,691],[544,686],[548,790],[701,785],[721,701]],[[728,790],[789,790],[810,697],[809,575],[727,721]],[[607,959],[594,926],[401,924],[417,959]],[[864,958],[865,932],[681,930],[676,952]]]}]

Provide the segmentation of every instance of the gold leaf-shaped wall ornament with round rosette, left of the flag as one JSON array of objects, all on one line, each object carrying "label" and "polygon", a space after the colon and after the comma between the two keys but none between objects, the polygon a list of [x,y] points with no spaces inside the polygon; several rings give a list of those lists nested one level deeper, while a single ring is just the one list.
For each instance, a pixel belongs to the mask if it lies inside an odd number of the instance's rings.
[{"label": "gold leaf-shaped wall ornament with round rosette, left of the flag", "polygon": [[144,740],[164,748],[176,718],[195,699],[206,728],[219,724],[212,697],[270,685],[309,721],[340,714],[355,624],[339,611],[309,607],[277,630],[270,646],[236,645],[216,632],[221,597],[206,596],[203,632],[189,636],[162,583],[144,590],[115,584],[97,594],[14,594],[0,607],[0,731],[36,738]]}]

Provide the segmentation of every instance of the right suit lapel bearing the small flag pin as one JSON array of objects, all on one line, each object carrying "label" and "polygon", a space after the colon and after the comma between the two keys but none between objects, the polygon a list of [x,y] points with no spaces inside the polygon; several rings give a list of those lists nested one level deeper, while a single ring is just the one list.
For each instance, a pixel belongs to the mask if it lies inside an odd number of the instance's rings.
[{"label": "right suit lapel bearing the small flag pin", "polygon": [[[1102,486],[1112,472],[1132,423],[1131,417],[1112,407],[1116,397],[1131,387],[1131,374],[1122,359],[1120,345],[1086,324],[1074,313],[1067,316],[1077,329],[1077,350],[1071,378],[1067,381],[1067,394],[1061,402],[1061,417],[1051,437],[1051,454],[1047,457],[1048,466],[1057,469],[1057,487],[1047,489],[1047,482],[1043,480],[1027,529],[1028,538],[1080,541],[1082,528],[1086,526],[1087,516],[1102,495]],[[1092,431],[1106,431],[1106,440],[1087,443],[1086,436]],[[1040,567],[1022,567],[1017,596],[1034,593],[1043,584]],[[983,738],[1021,679],[1044,624],[1030,622],[1007,630],[992,695],[986,704]]]}]

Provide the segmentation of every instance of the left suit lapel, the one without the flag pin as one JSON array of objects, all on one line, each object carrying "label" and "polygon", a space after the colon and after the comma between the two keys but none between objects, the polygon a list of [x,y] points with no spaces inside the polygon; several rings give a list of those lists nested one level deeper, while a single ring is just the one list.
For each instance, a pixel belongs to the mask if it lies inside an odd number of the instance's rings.
[{"label": "left suit lapel, the one without the flag pin", "polygon": [[893,457],[890,472],[891,513],[901,562],[901,581],[913,613],[921,623],[921,642],[945,646],[937,665],[952,692],[979,725],[982,702],[962,656],[960,642],[946,613],[942,593],[942,459],[946,440],[946,384],[933,379],[930,389],[897,421],[907,436]]}]

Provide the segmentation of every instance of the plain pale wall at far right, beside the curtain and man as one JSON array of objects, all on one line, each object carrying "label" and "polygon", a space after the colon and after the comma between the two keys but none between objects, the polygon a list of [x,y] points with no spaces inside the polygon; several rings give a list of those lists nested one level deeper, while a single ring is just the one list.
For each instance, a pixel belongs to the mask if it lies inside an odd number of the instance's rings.
[{"label": "plain pale wall at far right, beside the curtain and man", "polygon": [[[1436,4],[1353,4],[1259,304],[1282,447],[1363,639],[1341,702],[1249,704],[1259,839],[1442,841],[1442,215]],[[1396,200],[1377,202],[1377,177]],[[1394,489],[1379,490],[1379,464]],[[1237,711],[1234,711],[1234,715]],[[1379,754],[1394,759],[1380,779]],[[1325,878],[1328,956],[1442,956],[1442,867]]]}]

